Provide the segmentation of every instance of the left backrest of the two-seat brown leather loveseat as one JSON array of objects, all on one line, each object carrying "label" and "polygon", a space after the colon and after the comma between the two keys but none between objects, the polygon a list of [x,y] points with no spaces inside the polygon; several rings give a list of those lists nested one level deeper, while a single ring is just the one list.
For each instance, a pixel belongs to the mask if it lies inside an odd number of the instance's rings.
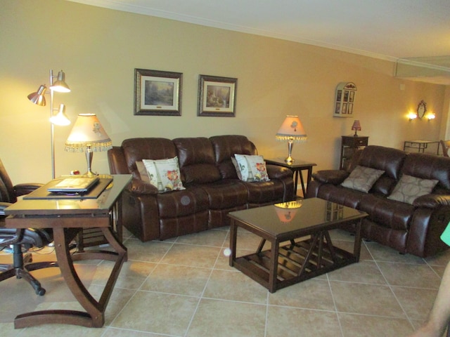
[{"label": "left backrest of the two-seat brown leather loveseat", "polygon": [[385,171],[371,190],[388,195],[400,178],[401,167],[406,156],[406,152],[392,147],[368,145],[358,156],[357,164]]}]

